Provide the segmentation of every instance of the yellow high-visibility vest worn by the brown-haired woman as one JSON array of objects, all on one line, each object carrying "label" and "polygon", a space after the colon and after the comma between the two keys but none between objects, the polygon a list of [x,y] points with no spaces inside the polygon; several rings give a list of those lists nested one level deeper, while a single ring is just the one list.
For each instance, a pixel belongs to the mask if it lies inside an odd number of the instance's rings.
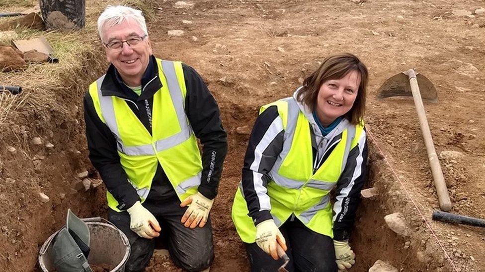
[{"label": "yellow high-visibility vest worn by the brown-haired woman", "polygon": [[[350,150],[357,145],[364,122],[356,126],[348,123],[333,151],[313,173],[311,126],[305,114],[293,98],[265,105],[259,113],[271,106],[277,107],[285,130],[283,150],[269,172],[271,181],[267,184],[271,216],[279,227],[294,214],[311,230],[333,238],[328,193],[340,178]],[[248,216],[241,187],[236,192],[232,218],[243,242],[254,243],[256,227]]]}]

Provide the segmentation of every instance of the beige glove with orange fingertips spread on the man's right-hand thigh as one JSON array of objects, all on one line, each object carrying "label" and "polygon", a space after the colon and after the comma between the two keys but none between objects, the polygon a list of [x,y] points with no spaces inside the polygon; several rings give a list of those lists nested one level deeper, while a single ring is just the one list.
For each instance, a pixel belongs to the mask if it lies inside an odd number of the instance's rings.
[{"label": "beige glove with orange fingertips spread on the man's right-hand thigh", "polygon": [[190,228],[195,228],[197,225],[200,227],[205,226],[209,218],[212,203],[214,203],[213,199],[208,199],[199,192],[186,198],[180,203],[180,207],[185,207],[190,204],[182,216],[181,222],[184,223],[183,225]]}]

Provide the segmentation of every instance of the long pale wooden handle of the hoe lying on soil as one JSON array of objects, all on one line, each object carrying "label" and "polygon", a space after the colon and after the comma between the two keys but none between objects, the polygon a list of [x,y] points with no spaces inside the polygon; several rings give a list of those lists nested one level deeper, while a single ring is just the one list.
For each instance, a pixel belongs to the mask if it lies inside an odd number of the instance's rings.
[{"label": "long pale wooden handle of the hoe lying on soil", "polygon": [[416,73],[413,69],[406,72],[409,77],[409,84],[411,85],[412,98],[414,99],[414,106],[416,107],[417,116],[419,118],[419,124],[421,126],[421,132],[423,133],[424,144],[426,145],[426,151],[428,153],[429,164],[431,165],[431,172],[433,173],[434,186],[440,203],[440,209],[448,212],[451,210],[451,200],[448,195],[448,189],[446,188],[445,178],[443,177],[443,171],[434,149],[433,138],[429,131],[428,119],[424,111],[423,100],[421,99],[421,93],[419,92],[419,86],[416,80]]}]

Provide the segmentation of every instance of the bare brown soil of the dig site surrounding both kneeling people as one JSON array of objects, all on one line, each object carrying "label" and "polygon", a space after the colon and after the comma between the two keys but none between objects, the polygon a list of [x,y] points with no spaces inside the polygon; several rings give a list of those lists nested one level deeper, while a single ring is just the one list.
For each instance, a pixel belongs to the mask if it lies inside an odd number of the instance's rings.
[{"label": "bare brown soil of the dig site surrounding both kneeling people", "polygon": [[[460,13],[456,10],[473,12],[484,2],[200,0],[187,9],[174,8],[174,2],[157,1],[162,10],[150,27],[154,53],[197,69],[218,101],[229,133],[230,149],[211,213],[216,250],[211,271],[249,271],[230,211],[257,109],[291,95],[319,61],[339,52],[359,55],[370,70],[366,187],[379,192],[364,199],[358,211],[351,239],[357,263],[351,271],[368,271],[378,259],[400,271],[485,271],[484,229],[431,220],[439,207],[412,99],[375,99],[386,78],[409,68],[434,83],[438,102],[425,103],[425,109],[452,212],[485,218],[485,18],[455,15]],[[167,36],[177,29],[184,35]],[[81,217],[105,216],[103,186],[87,192],[72,189],[83,169],[98,178],[87,160],[79,109],[82,90],[100,71],[83,71],[89,78],[80,77],[79,85],[71,86],[76,91],[56,94],[69,109],[29,106],[1,124],[2,271],[31,271],[40,245],[63,225],[68,207]],[[34,136],[44,143],[32,145]],[[55,147],[45,148],[47,141]],[[41,201],[40,191],[49,202]],[[406,218],[409,237],[386,226],[384,216],[395,212]],[[148,271],[179,269],[168,258],[154,257]]]}]

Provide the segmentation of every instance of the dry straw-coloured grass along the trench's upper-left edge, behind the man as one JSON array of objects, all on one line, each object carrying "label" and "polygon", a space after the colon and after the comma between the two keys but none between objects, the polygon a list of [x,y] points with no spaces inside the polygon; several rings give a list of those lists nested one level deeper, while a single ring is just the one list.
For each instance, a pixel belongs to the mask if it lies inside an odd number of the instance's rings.
[{"label": "dry straw-coloured grass along the trench's upper-left edge, behind the man", "polygon": [[[13,0],[15,6],[29,6],[30,0]],[[12,0],[7,0],[8,4]],[[34,1],[36,2],[36,1]],[[147,21],[154,16],[150,0],[124,0],[121,3],[141,9]],[[5,0],[0,0],[0,7]],[[96,80],[107,66],[104,50],[96,30],[96,20],[113,0],[87,0],[86,26],[77,31],[37,31],[17,28],[16,39],[28,39],[44,35],[54,49],[59,63],[29,64],[23,71],[0,72],[0,85],[21,86],[17,96],[3,93],[0,96],[0,139],[5,128],[13,131],[20,123],[30,123],[17,139],[27,137],[29,131],[43,129],[43,124],[60,125],[64,121],[79,118],[73,108],[82,108],[82,95],[88,85]],[[0,44],[11,44],[4,39]],[[19,121],[22,119],[23,121]],[[55,124],[52,124],[52,123]],[[21,125],[20,125],[21,127]],[[2,133],[3,131],[3,133]],[[11,133],[8,133],[11,136]],[[23,134],[23,135],[22,135]],[[1,141],[1,140],[0,140]]]}]

